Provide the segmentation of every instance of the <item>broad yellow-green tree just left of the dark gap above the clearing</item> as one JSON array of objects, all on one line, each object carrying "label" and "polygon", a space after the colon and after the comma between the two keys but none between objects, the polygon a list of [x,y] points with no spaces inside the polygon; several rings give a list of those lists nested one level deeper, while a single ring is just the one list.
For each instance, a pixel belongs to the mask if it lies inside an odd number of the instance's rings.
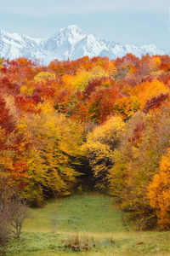
[{"label": "broad yellow-green tree just left of the dark gap above the clearing", "polygon": [[77,183],[82,129],[54,112],[50,103],[40,104],[41,113],[26,120],[33,148],[27,160],[26,195],[42,201],[43,195],[69,195]]}]

